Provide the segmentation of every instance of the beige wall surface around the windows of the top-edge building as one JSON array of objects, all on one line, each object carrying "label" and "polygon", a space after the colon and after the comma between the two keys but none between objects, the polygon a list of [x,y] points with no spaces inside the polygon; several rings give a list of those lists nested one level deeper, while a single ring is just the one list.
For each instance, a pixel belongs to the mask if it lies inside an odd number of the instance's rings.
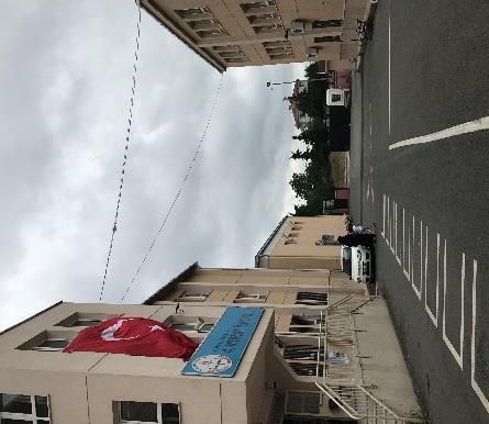
[{"label": "beige wall surface around the windows of the top-edge building", "polygon": [[[308,60],[329,60],[331,67],[351,66],[348,59],[356,56],[358,47],[349,40],[351,22],[362,19],[366,9],[366,0],[348,1],[345,9],[344,0],[330,0],[327,4],[322,1],[308,0],[276,0],[276,7],[244,10],[241,3],[247,1],[234,0],[142,0],[142,7],[157,21],[167,26],[177,37],[188,44],[197,54],[210,62],[220,70],[226,67],[256,66],[286,64]],[[178,10],[208,7],[210,13],[197,18],[182,16]],[[277,24],[277,29],[260,30],[256,26],[260,23],[263,13],[276,13],[274,19],[267,19],[265,23]],[[257,16],[257,18],[253,18]],[[249,18],[249,19],[248,19]],[[222,29],[223,34],[208,34],[202,31],[199,20],[212,19],[213,24],[204,21],[208,29]],[[286,30],[291,29],[296,20],[302,20],[303,34],[292,34],[286,38]],[[313,27],[314,21],[340,20],[340,26]],[[262,21],[264,21],[262,19]],[[216,22],[216,23],[215,23]],[[346,22],[346,32],[343,22]],[[262,22],[264,23],[264,22]],[[205,27],[204,27],[205,30]],[[344,34],[345,32],[345,34]],[[342,42],[322,41],[322,36],[343,36]],[[274,56],[266,49],[263,43],[284,41],[290,46],[290,55],[287,57]],[[221,55],[214,47],[238,46],[244,57],[243,62],[234,62],[225,55]],[[308,48],[318,49],[318,55],[308,57]]]}]

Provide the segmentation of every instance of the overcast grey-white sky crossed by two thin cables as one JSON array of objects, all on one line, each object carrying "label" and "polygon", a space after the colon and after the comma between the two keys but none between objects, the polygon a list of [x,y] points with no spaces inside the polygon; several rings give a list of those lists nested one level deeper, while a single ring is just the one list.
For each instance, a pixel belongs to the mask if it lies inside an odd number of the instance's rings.
[{"label": "overcast grey-white sky crossed by two thin cables", "polygon": [[[132,0],[2,1],[0,328],[58,300],[98,302],[123,156]],[[253,267],[280,217],[293,121],[266,81],[302,65],[231,69],[173,216],[125,301],[184,268]],[[221,75],[143,12],[130,157],[103,301],[119,302],[182,180]]]}]

